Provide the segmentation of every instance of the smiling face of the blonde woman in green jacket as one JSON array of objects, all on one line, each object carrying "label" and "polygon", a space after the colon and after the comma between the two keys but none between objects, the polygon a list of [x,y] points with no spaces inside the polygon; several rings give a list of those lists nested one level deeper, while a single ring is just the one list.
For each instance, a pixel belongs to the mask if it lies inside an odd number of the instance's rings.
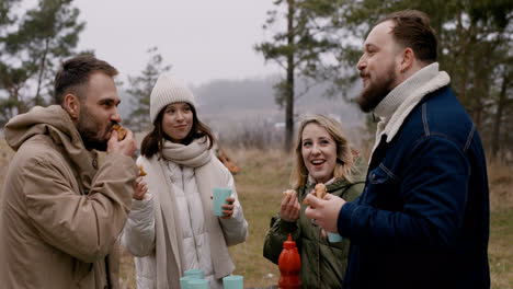
[{"label": "smiling face of the blonde woman in green jacket", "polygon": [[316,183],[333,177],[337,164],[337,143],[328,131],[316,123],[305,126],[301,135],[303,161]]}]

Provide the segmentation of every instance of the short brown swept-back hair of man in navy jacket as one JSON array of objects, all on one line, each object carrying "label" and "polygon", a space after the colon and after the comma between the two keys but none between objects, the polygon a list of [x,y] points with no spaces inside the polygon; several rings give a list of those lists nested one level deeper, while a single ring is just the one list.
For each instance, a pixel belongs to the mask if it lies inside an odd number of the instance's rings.
[{"label": "short brown swept-back hair of man in navy jacket", "polygon": [[409,47],[417,59],[432,63],[436,61],[438,41],[436,32],[430,26],[430,18],[418,10],[402,10],[390,13],[376,23],[392,21],[391,34],[404,48]]}]

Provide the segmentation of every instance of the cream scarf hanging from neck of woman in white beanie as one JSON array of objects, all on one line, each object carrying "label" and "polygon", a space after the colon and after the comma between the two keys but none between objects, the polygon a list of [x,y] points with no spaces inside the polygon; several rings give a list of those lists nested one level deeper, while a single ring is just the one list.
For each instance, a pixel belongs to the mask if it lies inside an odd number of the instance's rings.
[{"label": "cream scarf hanging from neck of woman in white beanie", "polygon": [[[196,139],[187,146],[164,141],[162,155],[168,161],[194,167],[210,241],[214,275],[219,279],[230,275],[235,264],[228,252],[218,218],[214,218],[212,208],[210,195],[214,187],[223,185],[224,171],[219,167],[223,164],[208,150],[208,144],[206,138]],[[141,160],[148,173],[148,188],[153,194],[155,203],[157,288],[179,288],[184,256],[176,198],[171,180],[166,173],[167,169],[163,162],[158,160],[158,155]],[[208,218],[209,216],[212,218]]]}]

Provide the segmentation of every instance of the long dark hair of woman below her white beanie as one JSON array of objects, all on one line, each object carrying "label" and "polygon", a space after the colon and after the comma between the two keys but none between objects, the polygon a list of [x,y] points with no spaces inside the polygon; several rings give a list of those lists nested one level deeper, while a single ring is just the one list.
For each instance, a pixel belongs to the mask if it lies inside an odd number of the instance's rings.
[{"label": "long dark hair of woman below her white beanie", "polygon": [[[193,113],[193,125],[191,131],[189,131],[189,135],[183,139],[182,143],[186,146],[195,139],[206,137],[210,141],[208,149],[212,149],[212,146],[214,146],[214,142],[216,141],[214,134],[212,134],[212,130],[207,125],[197,118],[194,106],[190,105],[190,107]],[[160,111],[159,115],[155,119],[153,129],[146,135],[142,139],[142,143],[140,144],[140,154],[147,159],[153,157],[156,153],[159,153],[159,158],[161,158],[164,139],[170,140],[162,130],[162,117],[164,111],[166,107]]]}]

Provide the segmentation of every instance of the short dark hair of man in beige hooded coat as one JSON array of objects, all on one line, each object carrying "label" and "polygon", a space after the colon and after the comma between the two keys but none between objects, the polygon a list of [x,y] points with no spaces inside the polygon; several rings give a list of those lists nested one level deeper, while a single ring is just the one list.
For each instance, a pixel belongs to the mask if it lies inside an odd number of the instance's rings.
[{"label": "short dark hair of man in beige hooded coat", "polygon": [[83,89],[88,84],[89,77],[94,72],[102,72],[110,77],[117,74],[114,67],[91,55],[79,55],[66,60],[55,76],[55,103],[62,105],[65,95],[68,93],[77,95],[80,102],[84,101]]}]

